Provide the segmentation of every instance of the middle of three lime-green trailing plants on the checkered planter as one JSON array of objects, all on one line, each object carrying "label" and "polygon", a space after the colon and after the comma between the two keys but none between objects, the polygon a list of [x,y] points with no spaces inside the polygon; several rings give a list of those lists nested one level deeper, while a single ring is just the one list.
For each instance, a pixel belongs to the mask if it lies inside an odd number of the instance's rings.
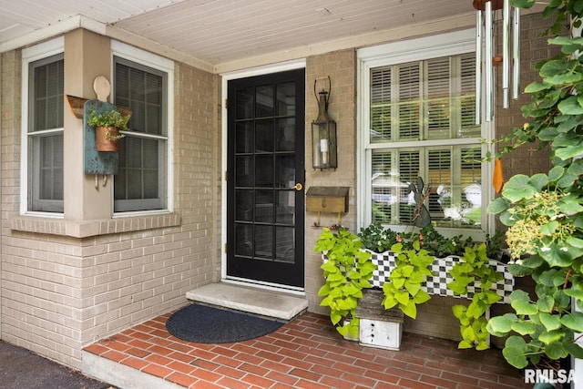
[{"label": "middle of three lime-green trailing plants on the checkered planter", "polygon": [[403,250],[403,244],[395,243],[391,251],[396,254],[395,267],[389,275],[389,281],[383,284],[384,309],[397,306],[404,314],[415,319],[417,304],[431,299],[421,286],[427,276],[432,274],[429,267],[434,257],[421,248],[419,241],[413,241],[409,250]]}]

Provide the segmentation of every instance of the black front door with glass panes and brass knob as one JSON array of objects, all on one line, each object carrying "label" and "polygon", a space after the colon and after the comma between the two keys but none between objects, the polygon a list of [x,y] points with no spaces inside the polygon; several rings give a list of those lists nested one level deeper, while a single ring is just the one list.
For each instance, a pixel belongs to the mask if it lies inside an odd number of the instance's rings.
[{"label": "black front door with glass panes and brass knob", "polygon": [[229,81],[227,278],[303,288],[304,77]]}]

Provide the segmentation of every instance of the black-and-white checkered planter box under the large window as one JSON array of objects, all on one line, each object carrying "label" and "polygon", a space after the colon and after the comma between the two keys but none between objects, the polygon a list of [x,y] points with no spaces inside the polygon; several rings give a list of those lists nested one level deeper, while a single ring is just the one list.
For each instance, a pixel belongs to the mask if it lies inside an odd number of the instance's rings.
[{"label": "black-and-white checkered planter box under the large window", "polygon": [[[373,271],[373,278],[371,283],[373,287],[382,288],[384,282],[389,278],[391,271],[395,267],[396,254],[391,251],[384,251],[377,253],[370,251],[373,254],[372,261],[376,265],[376,270]],[[433,277],[428,276],[426,282],[422,284],[422,289],[429,293],[439,296],[450,297],[465,297],[472,299],[476,291],[476,285],[470,284],[467,287],[467,294],[458,296],[454,292],[447,289],[447,284],[454,281],[449,272],[454,267],[455,263],[462,261],[459,257],[449,256],[445,258],[435,258],[431,265],[431,271],[434,273]],[[496,271],[504,274],[504,278],[496,282],[496,293],[502,297],[499,301],[501,303],[510,303],[510,293],[514,291],[514,277],[508,271],[506,264],[490,260],[491,266],[496,266]],[[478,285],[479,286],[479,285]]]}]

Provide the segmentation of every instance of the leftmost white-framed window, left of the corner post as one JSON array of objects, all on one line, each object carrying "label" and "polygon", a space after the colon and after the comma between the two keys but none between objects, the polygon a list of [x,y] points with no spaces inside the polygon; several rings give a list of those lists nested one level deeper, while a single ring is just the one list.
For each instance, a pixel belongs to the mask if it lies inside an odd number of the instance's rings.
[{"label": "leftmost white-framed window, left of the corner post", "polygon": [[23,51],[23,212],[63,212],[63,41]]}]

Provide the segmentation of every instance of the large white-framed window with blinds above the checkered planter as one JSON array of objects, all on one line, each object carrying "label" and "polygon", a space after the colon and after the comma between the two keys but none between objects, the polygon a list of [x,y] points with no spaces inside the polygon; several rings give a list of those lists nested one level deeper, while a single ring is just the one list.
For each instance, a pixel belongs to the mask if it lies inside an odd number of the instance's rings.
[{"label": "large white-framed window with blinds above the checkered planter", "polygon": [[[473,35],[472,35],[473,36]],[[424,180],[436,227],[485,230],[482,128],[476,125],[476,56],[468,42],[419,45],[414,54],[363,59],[363,179],[367,222],[411,226],[419,214],[410,185]]]}]

